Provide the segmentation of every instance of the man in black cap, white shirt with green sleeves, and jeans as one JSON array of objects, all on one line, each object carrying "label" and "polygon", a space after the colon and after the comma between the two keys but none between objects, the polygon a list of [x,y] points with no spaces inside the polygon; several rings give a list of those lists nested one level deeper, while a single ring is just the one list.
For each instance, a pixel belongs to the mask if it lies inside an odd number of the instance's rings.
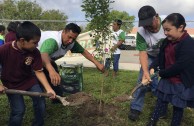
[{"label": "man in black cap, white shirt with green sleeves, and jeans", "polygon": [[139,27],[136,37],[136,49],[139,50],[141,69],[138,77],[138,84],[142,80],[148,80],[150,84],[139,88],[134,92],[134,99],[130,103],[129,119],[137,120],[143,109],[144,96],[146,91],[156,90],[158,78],[151,80],[149,66],[159,53],[160,42],[165,38],[164,30],[161,27],[161,18],[152,6],[146,5],[138,12]]}]

